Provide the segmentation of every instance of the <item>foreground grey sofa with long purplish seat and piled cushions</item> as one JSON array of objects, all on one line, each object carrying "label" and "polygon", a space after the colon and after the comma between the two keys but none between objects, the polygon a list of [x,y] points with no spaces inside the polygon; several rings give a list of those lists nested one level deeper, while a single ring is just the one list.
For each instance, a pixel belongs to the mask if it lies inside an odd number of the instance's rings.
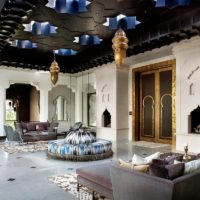
[{"label": "foreground grey sofa with long purplish seat and piled cushions", "polygon": [[[148,170],[141,165],[141,159],[133,158],[130,162],[107,162],[76,170],[77,190],[86,186],[103,194],[108,199],[126,200],[198,200],[198,184],[200,177],[199,156],[192,156],[190,161],[181,162],[182,154],[166,153],[159,159],[156,154],[148,156]],[[136,156],[136,154],[134,155]],[[179,163],[173,164],[174,160]],[[135,167],[133,167],[133,162]],[[164,164],[165,163],[165,164]],[[138,165],[139,164],[139,165]],[[186,189],[187,188],[187,189]],[[144,192],[145,191],[145,192]],[[194,192],[195,191],[195,192]]]}]

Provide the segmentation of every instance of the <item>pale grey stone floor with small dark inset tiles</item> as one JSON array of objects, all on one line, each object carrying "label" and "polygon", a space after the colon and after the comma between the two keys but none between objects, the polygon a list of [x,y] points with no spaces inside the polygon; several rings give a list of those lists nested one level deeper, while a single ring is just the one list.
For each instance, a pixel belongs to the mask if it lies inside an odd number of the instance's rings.
[{"label": "pale grey stone floor with small dark inset tiles", "polygon": [[[63,175],[76,168],[103,163],[117,158],[129,160],[133,153],[147,156],[156,151],[171,151],[169,146],[162,149],[134,146],[131,142],[113,143],[114,156],[92,162],[71,162],[48,159],[46,152],[7,154],[0,150],[0,199],[1,200],[73,200],[48,180],[52,175]],[[14,179],[14,180],[13,180]],[[10,181],[9,181],[10,180]]]}]

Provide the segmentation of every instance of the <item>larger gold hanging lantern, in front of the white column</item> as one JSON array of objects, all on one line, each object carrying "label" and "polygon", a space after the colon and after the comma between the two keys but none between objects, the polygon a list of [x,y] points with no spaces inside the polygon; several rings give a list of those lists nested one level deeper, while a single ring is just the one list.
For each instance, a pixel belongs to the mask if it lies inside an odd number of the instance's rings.
[{"label": "larger gold hanging lantern, in front of the white column", "polygon": [[117,65],[123,65],[126,59],[126,50],[128,49],[128,38],[126,33],[119,29],[112,40],[112,48],[115,54],[115,63]]}]

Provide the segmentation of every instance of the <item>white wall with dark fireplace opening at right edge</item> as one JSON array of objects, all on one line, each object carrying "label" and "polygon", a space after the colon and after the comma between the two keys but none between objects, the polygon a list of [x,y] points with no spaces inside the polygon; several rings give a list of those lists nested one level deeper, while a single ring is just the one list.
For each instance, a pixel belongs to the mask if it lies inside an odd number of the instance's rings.
[{"label": "white wall with dark fireplace opening at right edge", "polygon": [[189,115],[200,105],[200,37],[175,45],[173,52],[177,68],[176,149],[183,150],[188,143],[189,151],[199,153],[200,135],[190,133]]}]

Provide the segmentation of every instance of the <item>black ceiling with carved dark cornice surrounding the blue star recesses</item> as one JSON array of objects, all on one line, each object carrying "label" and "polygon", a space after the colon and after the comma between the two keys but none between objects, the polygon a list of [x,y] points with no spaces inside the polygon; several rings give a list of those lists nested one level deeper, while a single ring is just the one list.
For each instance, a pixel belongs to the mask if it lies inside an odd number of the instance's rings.
[{"label": "black ceiling with carved dark cornice surrounding the blue star recesses", "polygon": [[[78,51],[74,56],[56,55],[64,73],[87,70],[114,59],[112,38],[115,31],[103,26],[107,17],[118,14],[136,16],[141,23],[127,30],[128,56],[142,53],[200,32],[200,2],[191,0],[189,6],[174,9],[156,8],[154,0],[88,0],[88,11],[78,14],[60,14],[46,7],[48,0],[1,0],[0,2],[0,64],[12,67],[49,70],[53,50],[65,48]],[[24,31],[22,24],[32,20],[58,27],[50,36],[34,35]],[[99,45],[81,46],[74,37],[97,35]],[[20,49],[10,45],[14,40],[30,40],[36,49]]]}]

